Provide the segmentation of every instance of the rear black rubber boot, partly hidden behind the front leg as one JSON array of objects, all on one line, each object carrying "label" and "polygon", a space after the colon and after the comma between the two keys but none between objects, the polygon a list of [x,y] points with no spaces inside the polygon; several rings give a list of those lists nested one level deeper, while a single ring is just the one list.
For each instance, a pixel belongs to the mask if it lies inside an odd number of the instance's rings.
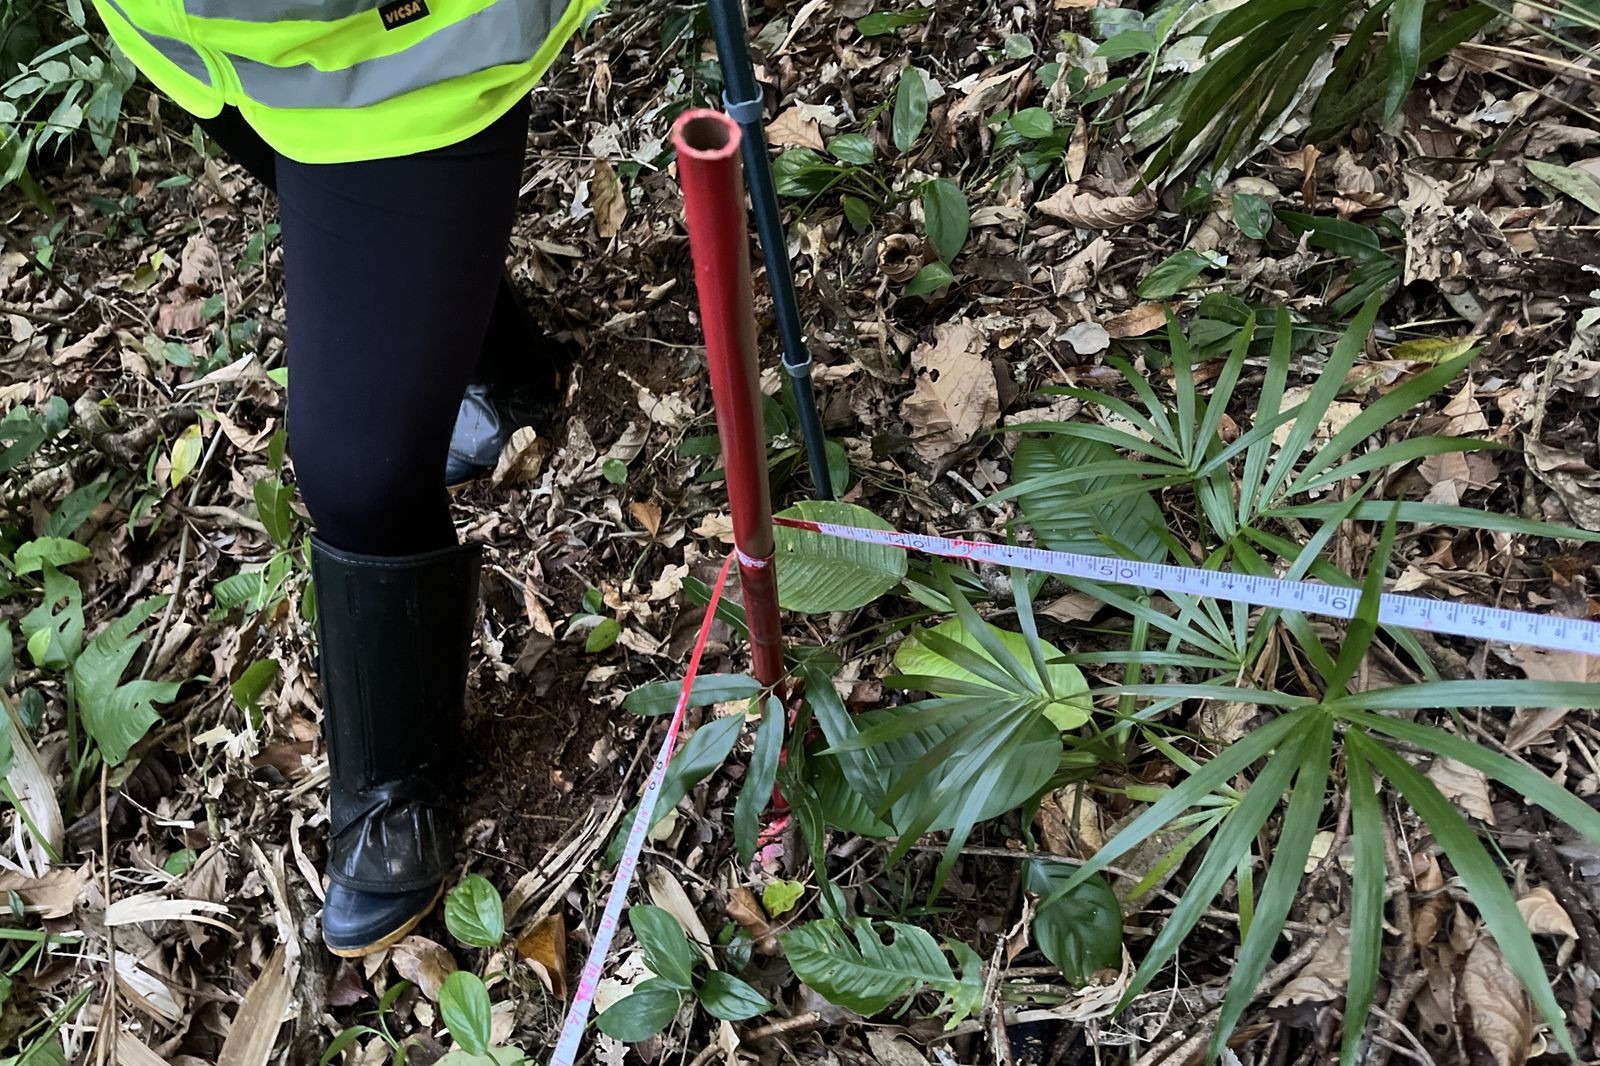
[{"label": "rear black rubber boot, partly hidden behind the front leg", "polygon": [[571,352],[544,335],[510,277],[501,282],[494,323],[461,399],[445,461],[445,485],[454,487],[494,469],[512,432],[546,429],[566,394]]}]

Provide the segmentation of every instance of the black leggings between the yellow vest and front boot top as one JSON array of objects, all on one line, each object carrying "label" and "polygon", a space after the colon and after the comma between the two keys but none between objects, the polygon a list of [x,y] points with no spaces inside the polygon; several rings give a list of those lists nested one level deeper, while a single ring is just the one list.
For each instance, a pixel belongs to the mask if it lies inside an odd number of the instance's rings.
[{"label": "black leggings between the yellow vest and front boot top", "polygon": [[371,555],[454,544],[461,394],[530,341],[504,274],[528,102],[459,144],[360,163],[296,163],[235,110],[202,126],[278,194],[290,450],[318,536]]}]

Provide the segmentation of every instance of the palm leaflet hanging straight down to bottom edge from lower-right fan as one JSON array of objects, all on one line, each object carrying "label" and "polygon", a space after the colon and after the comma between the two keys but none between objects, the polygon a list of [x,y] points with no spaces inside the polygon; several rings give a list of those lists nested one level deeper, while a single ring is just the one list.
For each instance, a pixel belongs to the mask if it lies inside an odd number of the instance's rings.
[{"label": "palm leaflet hanging straight down to bottom edge from lower-right fan", "polygon": [[1366,1013],[1378,988],[1384,952],[1384,821],[1373,771],[1360,744],[1346,744],[1344,778],[1350,795],[1350,978],[1344,994],[1344,1040],[1339,1066],[1355,1066],[1366,1031]]}]

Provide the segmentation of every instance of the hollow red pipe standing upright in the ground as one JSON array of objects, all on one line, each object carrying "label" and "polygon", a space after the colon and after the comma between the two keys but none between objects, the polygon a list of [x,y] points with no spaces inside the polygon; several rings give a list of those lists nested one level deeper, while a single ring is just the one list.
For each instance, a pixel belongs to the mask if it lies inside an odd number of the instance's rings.
[{"label": "hollow red pipe standing upright in the ground", "polygon": [[717,110],[688,110],[672,125],[672,144],[678,157],[706,362],[710,365],[710,392],[722,437],[733,546],[739,557],[744,616],[750,626],[750,656],[755,679],[774,685],[784,674],[784,647],[773,565],[766,431],[757,387],[760,371],[755,362],[739,126]]}]

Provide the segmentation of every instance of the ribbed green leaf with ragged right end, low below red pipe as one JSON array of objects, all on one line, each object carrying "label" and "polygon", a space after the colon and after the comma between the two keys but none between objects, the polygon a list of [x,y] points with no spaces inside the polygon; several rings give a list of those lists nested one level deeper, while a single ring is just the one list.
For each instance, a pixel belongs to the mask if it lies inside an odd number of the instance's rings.
[{"label": "ribbed green leaf with ragged right end, low below red pipe", "polygon": [[872,1016],[923,988],[960,1004],[950,1024],[970,1013],[970,997],[962,984],[981,981],[981,975],[968,973],[965,981],[957,978],[939,944],[923,928],[902,922],[885,922],[882,928],[893,933],[891,943],[882,938],[880,927],[866,919],[848,925],[821,919],[779,933],[778,940],[797,978],[827,1002],[858,1015]]}]

